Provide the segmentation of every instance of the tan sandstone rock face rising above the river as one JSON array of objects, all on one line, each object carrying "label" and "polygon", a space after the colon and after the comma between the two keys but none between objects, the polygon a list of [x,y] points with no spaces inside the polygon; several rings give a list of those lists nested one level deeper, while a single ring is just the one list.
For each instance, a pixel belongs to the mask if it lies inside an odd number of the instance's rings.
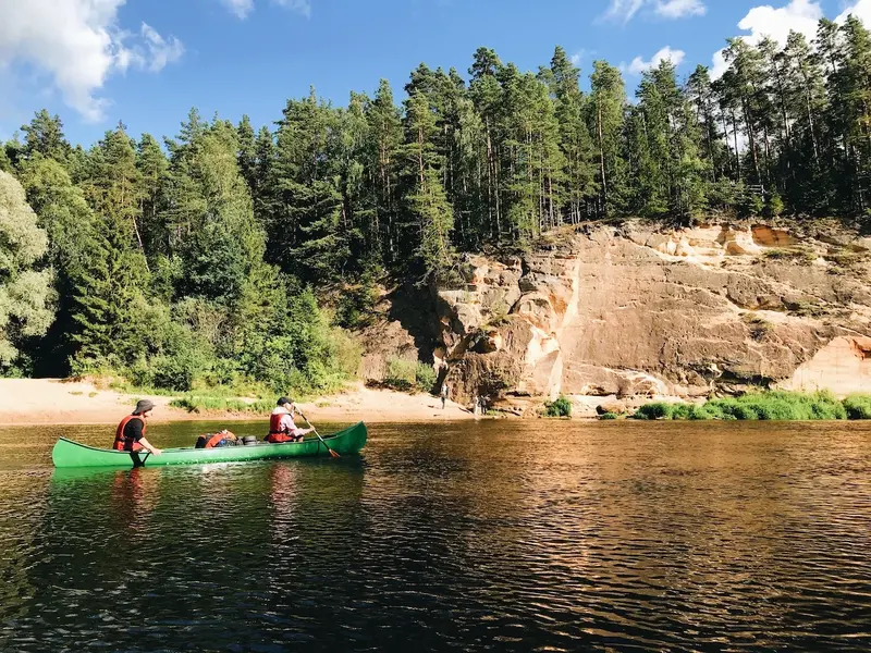
[{"label": "tan sandstone rock face rising above the river", "polygon": [[512,406],[868,392],[869,249],[843,231],[824,242],[763,224],[552,233],[523,258],[468,257],[463,283],[431,291],[434,359],[454,401]]}]

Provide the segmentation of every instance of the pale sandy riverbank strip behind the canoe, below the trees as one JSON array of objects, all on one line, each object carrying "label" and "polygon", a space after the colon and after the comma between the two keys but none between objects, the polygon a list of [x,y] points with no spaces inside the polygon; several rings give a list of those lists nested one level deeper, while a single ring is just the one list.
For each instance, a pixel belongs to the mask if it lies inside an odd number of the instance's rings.
[{"label": "pale sandy riverbank strip behind the canoe, below the trees", "polygon": [[[181,396],[181,395],[179,395]],[[0,379],[0,426],[116,423],[137,399],[155,403],[154,422],[176,420],[250,420],[257,414],[191,412],[170,406],[176,396],[125,394],[88,381]],[[317,422],[441,422],[474,419],[463,407],[428,394],[409,395],[354,384],[342,394],[299,403]],[[265,417],[265,416],[263,416]]]}]

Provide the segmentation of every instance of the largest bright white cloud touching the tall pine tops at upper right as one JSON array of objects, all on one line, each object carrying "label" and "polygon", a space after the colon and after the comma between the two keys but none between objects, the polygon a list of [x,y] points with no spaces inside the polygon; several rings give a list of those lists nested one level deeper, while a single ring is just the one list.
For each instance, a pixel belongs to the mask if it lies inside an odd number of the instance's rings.
[{"label": "largest bright white cloud touching the tall pine tops at upper right", "polygon": [[[868,1],[859,0],[859,4]],[[823,15],[820,3],[814,0],[790,0],[780,9],[768,4],[752,8],[738,23],[738,28],[750,33],[741,35],[741,38],[750,45],[757,45],[766,36],[784,45],[789,32],[799,32],[808,39],[812,39],[817,34],[817,24]],[[728,63],[723,57],[723,50],[715,52],[711,77],[719,79],[727,69]]]}]

